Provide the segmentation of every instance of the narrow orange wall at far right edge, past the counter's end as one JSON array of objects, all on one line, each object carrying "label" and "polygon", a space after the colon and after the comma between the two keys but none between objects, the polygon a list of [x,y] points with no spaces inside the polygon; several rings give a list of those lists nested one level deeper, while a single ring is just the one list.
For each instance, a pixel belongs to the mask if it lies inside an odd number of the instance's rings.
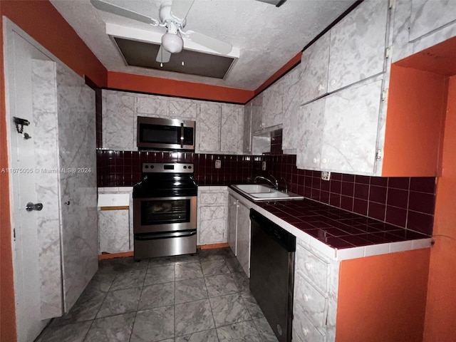
[{"label": "narrow orange wall at far right edge, past the counter's end", "polygon": [[434,239],[430,254],[424,341],[456,336],[456,76],[450,78],[443,138],[442,176],[437,180]]}]

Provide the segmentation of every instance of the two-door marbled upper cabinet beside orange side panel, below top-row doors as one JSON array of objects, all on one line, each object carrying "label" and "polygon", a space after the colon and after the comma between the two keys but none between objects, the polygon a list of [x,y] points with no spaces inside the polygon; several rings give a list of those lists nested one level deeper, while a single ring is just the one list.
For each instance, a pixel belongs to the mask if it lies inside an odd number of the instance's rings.
[{"label": "two-door marbled upper cabinet beside orange side panel, below top-row doors", "polygon": [[382,80],[340,90],[301,108],[301,169],[373,175]]}]

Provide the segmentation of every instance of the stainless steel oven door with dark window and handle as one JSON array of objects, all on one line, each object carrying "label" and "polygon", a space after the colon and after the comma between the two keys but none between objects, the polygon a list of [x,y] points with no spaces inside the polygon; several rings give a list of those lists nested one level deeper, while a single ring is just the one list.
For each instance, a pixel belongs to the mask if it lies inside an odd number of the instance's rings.
[{"label": "stainless steel oven door with dark window and handle", "polygon": [[133,199],[133,233],[175,232],[197,228],[197,197]]}]

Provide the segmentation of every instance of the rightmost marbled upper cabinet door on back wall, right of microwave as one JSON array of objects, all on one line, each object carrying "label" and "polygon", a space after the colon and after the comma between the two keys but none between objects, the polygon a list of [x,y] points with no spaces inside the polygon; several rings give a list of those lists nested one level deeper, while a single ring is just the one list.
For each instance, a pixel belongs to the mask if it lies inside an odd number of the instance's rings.
[{"label": "rightmost marbled upper cabinet door on back wall, right of microwave", "polygon": [[220,151],[241,153],[244,135],[240,105],[222,103],[222,123],[220,127]]}]

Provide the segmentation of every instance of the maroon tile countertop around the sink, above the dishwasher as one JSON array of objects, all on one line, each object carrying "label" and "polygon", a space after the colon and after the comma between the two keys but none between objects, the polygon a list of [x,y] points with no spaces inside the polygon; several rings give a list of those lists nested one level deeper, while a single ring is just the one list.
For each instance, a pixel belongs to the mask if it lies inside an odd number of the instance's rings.
[{"label": "maroon tile countertop around the sink, above the dishwasher", "polygon": [[[230,188],[244,196],[242,192]],[[311,199],[254,203],[336,249],[429,238],[425,234],[330,207]]]}]

